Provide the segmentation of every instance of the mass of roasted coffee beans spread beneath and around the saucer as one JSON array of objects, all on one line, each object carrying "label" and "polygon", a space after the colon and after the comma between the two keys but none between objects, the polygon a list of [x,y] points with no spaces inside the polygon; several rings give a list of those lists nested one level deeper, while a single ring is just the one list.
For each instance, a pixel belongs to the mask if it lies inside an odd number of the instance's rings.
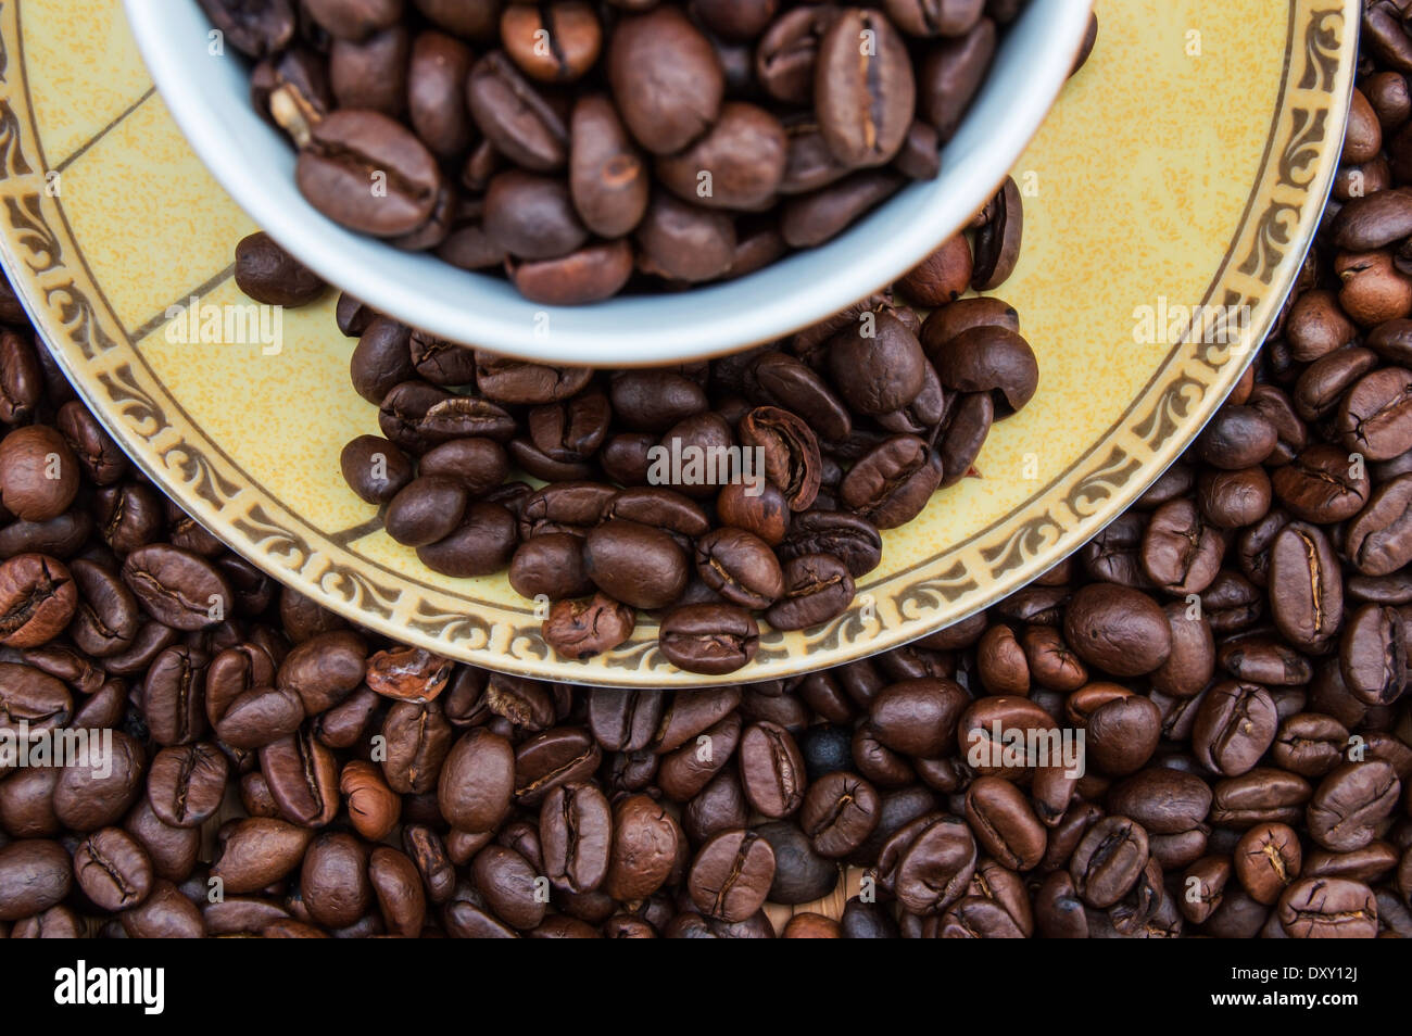
[{"label": "mass of roasted coffee beans spread beneath and around the saucer", "polygon": [[[1412,408],[1382,388],[1412,375],[1333,272],[1365,205],[1077,556],[914,645],[699,692],[490,673],[281,591],[0,291],[0,936],[1412,936]],[[17,762],[21,731],[110,752]]]}]

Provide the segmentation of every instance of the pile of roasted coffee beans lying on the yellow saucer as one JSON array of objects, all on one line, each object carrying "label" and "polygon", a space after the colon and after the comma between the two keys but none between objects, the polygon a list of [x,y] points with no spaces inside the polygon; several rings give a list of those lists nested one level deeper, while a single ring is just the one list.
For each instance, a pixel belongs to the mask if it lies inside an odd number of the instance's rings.
[{"label": "pile of roasted coffee beans lying on the yellow saucer", "polygon": [[[562,658],[618,646],[642,610],[672,665],[734,672],[758,646],[757,614],[777,630],[843,614],[881,559],[880,531],[973,473],[991,423],[1034,395],[1015,311],[960,298],[1015,265],[1014,181],[980,223],[974,243],[947,241],[897,294],[671,368],[508,360],[343,296],[339,326],[359,336],[353,385],[383,432],[347,443],[343,477],[433,572],[508,570],[548,607],[544,638]],[[275,248],[254,240],[243,250]],[[260,264],[270,291],[260,277],[241,287],[274,298],[288,263]],[[911,302],[935,309],[923,320]]]}]

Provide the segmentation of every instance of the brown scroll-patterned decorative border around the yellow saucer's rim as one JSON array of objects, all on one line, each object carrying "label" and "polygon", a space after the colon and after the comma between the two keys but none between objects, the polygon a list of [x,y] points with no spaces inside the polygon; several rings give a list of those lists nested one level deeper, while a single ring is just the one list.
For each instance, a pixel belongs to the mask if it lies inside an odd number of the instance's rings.
[{"label": "brown scroll-patterned decorative border around the yellow saucer's rim", "polygon": [[45,186],[25,82],[20,0],[0,3],[0,253],[88,405],[143,470],[236,550],[354,621],[476,665],[607,686],[710,686],[839,665],[959,621],[1019,589],[1131,504],[1204,425],[1274,323],[1317,227],[1353,88],[1357,0],[1289,0],[1289,52],[1267,154],[1204,305],[1248,306],[1234,346],[1180,343],[1117,430],[1007,518],[928,562],[860,584],[854,607],[808,632],[767,631],[730,677],[675,670],[640,621],[618,651],[563,663],[528,608],[473,603],[357,558],[254,484],[134,349]]}]

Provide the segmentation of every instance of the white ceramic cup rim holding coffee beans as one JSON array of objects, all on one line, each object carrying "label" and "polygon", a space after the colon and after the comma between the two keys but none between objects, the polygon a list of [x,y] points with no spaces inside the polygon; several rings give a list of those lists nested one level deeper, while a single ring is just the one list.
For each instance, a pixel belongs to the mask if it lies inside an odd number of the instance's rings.
[{"label": "white ceramic cup rim holding coffee beans", "polygon": [[672,364],[771,342],[891,284],[1004,182],[1073,66],[1091,0],[1031,0],[942,152],[832,241],[736,281],[587,306],[544,306],[504,279],[404,253],[329,220],[294,182],[294,147],[250,103],[249,68],[213,55],[195,0],[124,0],[162,100],[212,175],[284,248],[374,309],[439,337],[544,363]]}]

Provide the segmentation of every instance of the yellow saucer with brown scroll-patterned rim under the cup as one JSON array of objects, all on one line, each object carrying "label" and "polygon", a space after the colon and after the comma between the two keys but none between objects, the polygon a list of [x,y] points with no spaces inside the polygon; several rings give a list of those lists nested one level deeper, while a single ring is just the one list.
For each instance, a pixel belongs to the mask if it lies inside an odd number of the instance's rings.
[{"label": "yellow saucer with brown scroll-patterned rim under the cup", "polygon": [[[980,478],[885,534],[847,614],[767,631],[755,662],[724,679],[675,670],[648,621],[611,655],[562,662],[504,577],[436,576],[388,539],[339,474],[343,443],[377,432],[377,415],[349,384],[353,343],[333,326],[332,295],[284,313],[278,351],[169,326],[192,296],[246,302],[232,253],[253,227],[154,95],[116,0],[0,6],[0,253],[137,463],[323,606],[527,676],[659,687],[788,676],[963,618],[1079,548],[1196,435],[1298,272],[1343,140],[1357,0],[1097,10],[1097,51],[1015,169],[1025,247],[1001,294],[1039,357],[1039,392],[994,428]],[[1180,340],[1192,308],[1213,319]]]}]

